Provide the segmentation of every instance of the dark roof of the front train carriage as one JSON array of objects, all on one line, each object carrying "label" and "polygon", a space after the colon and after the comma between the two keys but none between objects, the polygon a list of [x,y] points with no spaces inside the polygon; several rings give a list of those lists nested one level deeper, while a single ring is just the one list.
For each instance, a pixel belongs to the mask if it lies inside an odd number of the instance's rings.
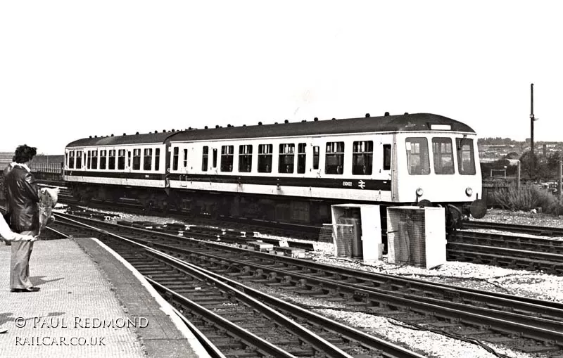
[{"label": "dark roof of the front train carriage", "polygon": [[[429,131],[431,124],[449,125],[448,132],[474,133],[467,124],[441,115],[415,113],[361,117],[343,120],[320,120],[280,124],[263,124],[246,127],[220,127],[191,129],[177,132],[170,141],[205,141],[213,139],[261,138],[276,136],[309,136],[318,134],[346,134],[372,132],[419,132]],[[444,128],[442,127],[442,131]]]}]

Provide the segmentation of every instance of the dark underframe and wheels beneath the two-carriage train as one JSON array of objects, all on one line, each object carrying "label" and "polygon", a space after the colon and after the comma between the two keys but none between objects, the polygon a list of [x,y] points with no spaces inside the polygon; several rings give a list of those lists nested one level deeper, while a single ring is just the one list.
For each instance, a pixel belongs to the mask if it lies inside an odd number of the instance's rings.
[{"label": "dark underframe and wheels beneath the two-carriage train", "polygon": [[[118,202],[122,198],[137,200],[148,214],[176,210],[187,217],[242,217],[289,224],[320,226],[331,222],[331,205],[353,203],[350,200],[260,196],[248,193],[187,191],[163,188],[96,186],[71,184],[72,196],[87,204],[92,199]],[[362,202],[366,204],[365,202]],[[381,225],[386,228],[388,206],[418,205],[445,207],[448,232],[459,229],[469,217],[470,203],[372,203],[381,205]]]}]

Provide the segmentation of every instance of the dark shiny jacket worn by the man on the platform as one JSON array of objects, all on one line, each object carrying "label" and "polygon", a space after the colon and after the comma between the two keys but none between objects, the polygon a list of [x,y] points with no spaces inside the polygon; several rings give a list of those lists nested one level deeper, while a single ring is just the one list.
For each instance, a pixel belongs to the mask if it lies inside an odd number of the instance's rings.
[{"label": "dark shiny jacket worn by the man on the platform", "polygon": [[16,165],[6,176],[6,202],[10,207],[11,229],[17,233],[39,229],[39,193],[35,178]]}]

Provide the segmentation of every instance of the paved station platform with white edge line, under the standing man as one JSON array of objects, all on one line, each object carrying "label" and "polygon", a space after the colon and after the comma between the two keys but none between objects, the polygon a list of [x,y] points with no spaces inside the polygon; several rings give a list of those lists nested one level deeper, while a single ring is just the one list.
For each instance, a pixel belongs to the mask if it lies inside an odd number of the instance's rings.
[{"label": "paved station platform with white edge line, under the standing man", "polygon": [[0,241],[0,357],[208,357],[170,305],[92,238],[37,241],[34,293],[9,290]]}]

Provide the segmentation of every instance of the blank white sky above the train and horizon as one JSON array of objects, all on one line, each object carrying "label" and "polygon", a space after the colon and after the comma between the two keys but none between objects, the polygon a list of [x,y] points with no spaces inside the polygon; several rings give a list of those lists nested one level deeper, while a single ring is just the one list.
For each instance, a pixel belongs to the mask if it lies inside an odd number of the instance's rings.
[{"label": "blank white sky above the train and horizon", "polygon": [[558,1],[0,1],[0,151],[434,113],[563,141]]}]

